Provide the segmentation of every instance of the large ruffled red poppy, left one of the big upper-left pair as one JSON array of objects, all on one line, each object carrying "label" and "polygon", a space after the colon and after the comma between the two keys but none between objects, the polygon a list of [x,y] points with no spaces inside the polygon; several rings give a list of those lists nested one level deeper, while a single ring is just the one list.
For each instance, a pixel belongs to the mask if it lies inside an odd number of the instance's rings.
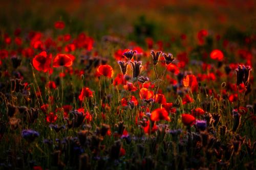
[{"label": "large ruffled red poppy, left one of the big upper-left pair", "polygon": [[38,71],[48,71],[51,69],[52,55],[47,55],[46,52],[41,52],[33,58],[32,64]]}]

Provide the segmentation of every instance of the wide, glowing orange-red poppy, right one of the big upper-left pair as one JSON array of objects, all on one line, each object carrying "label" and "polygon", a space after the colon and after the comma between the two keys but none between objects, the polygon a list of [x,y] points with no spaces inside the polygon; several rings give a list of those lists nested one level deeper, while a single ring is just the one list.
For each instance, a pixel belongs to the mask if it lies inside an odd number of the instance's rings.
[{"label": "wide, glowing orange-red poppy, right one of the big upper-left pair", "polygon": [[73,64],[72,55],[58,54],[53,59],[53,67],[65,66],[69,67]]}]

